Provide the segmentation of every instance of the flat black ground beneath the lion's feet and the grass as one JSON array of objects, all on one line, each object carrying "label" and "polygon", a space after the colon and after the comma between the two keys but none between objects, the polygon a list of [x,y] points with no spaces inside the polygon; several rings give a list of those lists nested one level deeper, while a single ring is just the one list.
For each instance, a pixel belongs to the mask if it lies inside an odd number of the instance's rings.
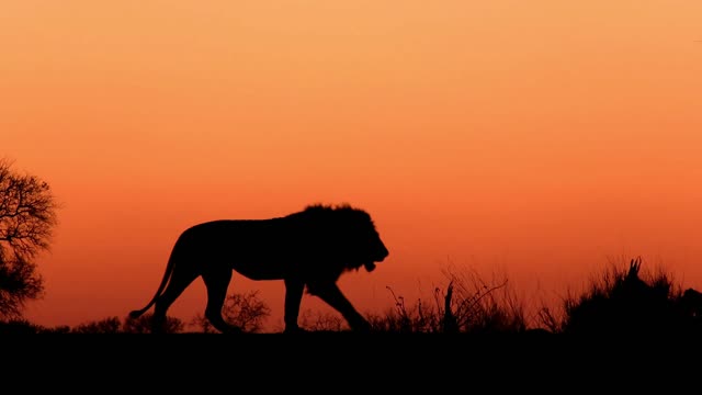
[{"label": "flat black ground beneath the lion's feet and the grass", "polygon": [[681,338],[316,332],[33,335],[0,341],[5,382],[21,376],[29,388],[91,394],[629,394],[641,384],[647,393],[666,384],[671,393],[688,381],[698,385],[702,368],[700,339]]}]

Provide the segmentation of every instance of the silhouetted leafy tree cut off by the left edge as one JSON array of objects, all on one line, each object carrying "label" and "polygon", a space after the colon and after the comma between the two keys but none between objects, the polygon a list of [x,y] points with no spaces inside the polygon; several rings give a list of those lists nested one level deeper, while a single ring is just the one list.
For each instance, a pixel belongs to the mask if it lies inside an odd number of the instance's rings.
[{"label": "silhouetted leafy tree cut off by the left edge", "polygon": [[22,316],[44,291],[34,259],[49,248],[57,203],[46,181],[0,160],[0,318]]}]

